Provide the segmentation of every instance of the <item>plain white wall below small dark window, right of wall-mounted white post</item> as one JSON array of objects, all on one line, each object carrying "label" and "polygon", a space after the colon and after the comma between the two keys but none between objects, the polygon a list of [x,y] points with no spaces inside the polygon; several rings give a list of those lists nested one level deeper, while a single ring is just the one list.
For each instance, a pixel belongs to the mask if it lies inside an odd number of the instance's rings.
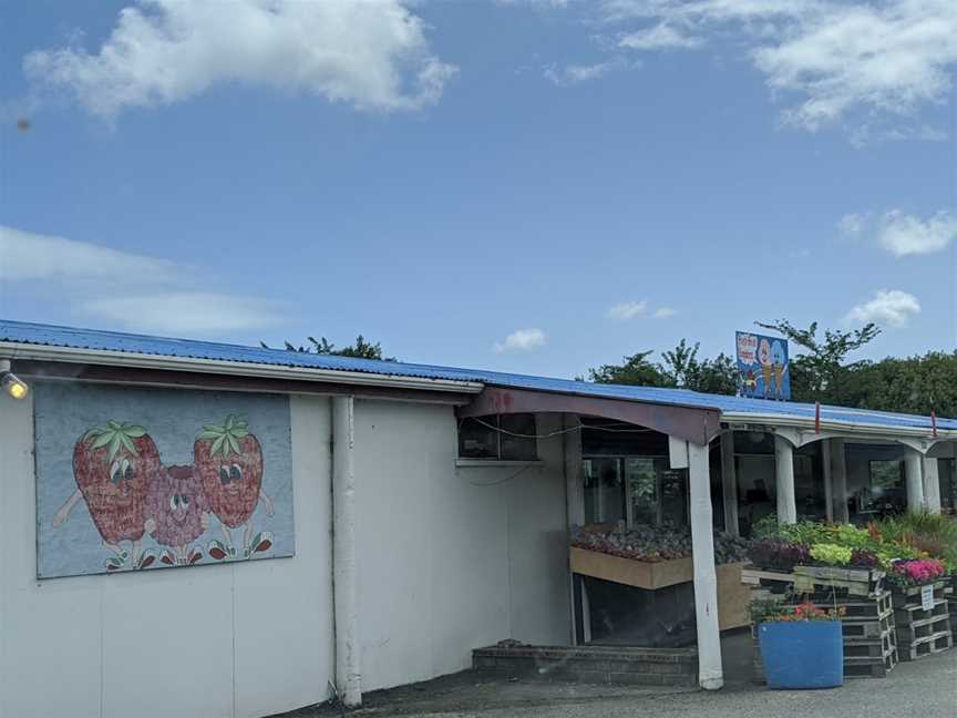
[{"label": "plain white wall below small dark window, right of wall-mounted white post", "polygon": [[[559,428],[542,420],[538,432]],[[467,668],[503,638],[569,640],[562,438],[541,464],[456,468],[449,407],[356,402],[362,688]]]}]

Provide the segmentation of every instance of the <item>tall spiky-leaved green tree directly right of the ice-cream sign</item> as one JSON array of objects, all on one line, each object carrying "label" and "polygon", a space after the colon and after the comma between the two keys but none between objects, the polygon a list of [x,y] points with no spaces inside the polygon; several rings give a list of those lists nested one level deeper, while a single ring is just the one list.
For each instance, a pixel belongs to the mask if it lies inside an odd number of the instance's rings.
[{"label": "tall spiky-leaved green tree directly right of the ice-cream sign", "polygon": [[786,319],[754,324],[784,335],[804,349],[804,353],[792,357],[789,362],[792,399],[834,404],[847,404],[851,401],[850,375],[865,363],[845,363],[847,356],[881,334],[879,327],[873,322],[851,331],[825,329],[823,338],[817,337],[816,321],[806,329],[800,329]]}]

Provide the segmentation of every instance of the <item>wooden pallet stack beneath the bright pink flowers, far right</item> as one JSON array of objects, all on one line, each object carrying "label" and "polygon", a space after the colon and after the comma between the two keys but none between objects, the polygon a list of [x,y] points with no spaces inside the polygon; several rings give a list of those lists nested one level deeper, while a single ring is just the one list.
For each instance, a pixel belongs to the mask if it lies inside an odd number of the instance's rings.
[{"label": "wooden pallet stack beneath the bright pink flowers, far right", "polygon": [[894,587],[894,617],[902,660],[917,660],[954,647],[944,582]]}]

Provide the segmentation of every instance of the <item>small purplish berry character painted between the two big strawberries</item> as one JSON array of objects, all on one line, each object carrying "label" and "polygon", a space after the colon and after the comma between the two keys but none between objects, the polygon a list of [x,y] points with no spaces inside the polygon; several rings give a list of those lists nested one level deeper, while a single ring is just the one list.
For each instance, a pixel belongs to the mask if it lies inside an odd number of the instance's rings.
[{"label": "small purplish berry character painted between the two big strawberries", "polygon": [[146,495],[144,529],[156,543],[169,546],[160,555],[167,566],[188,566],[203,558],[191,547],[208,527],[206,495],[193,466],[165,466]]}]

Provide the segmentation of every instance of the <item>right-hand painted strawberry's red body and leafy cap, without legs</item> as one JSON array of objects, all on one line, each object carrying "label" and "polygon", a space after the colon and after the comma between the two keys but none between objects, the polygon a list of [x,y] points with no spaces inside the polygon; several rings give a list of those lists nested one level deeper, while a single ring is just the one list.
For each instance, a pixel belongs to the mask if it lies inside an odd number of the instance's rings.
[{"label": "right-hand painted strawberry's red body and leafy cap, without legs", "polygon": [[263,450],[246,420],[229,414],[222,425],[208,425],[193,444],[194,470],[207,505],[224,526],[248,522],[263,485]]}]

